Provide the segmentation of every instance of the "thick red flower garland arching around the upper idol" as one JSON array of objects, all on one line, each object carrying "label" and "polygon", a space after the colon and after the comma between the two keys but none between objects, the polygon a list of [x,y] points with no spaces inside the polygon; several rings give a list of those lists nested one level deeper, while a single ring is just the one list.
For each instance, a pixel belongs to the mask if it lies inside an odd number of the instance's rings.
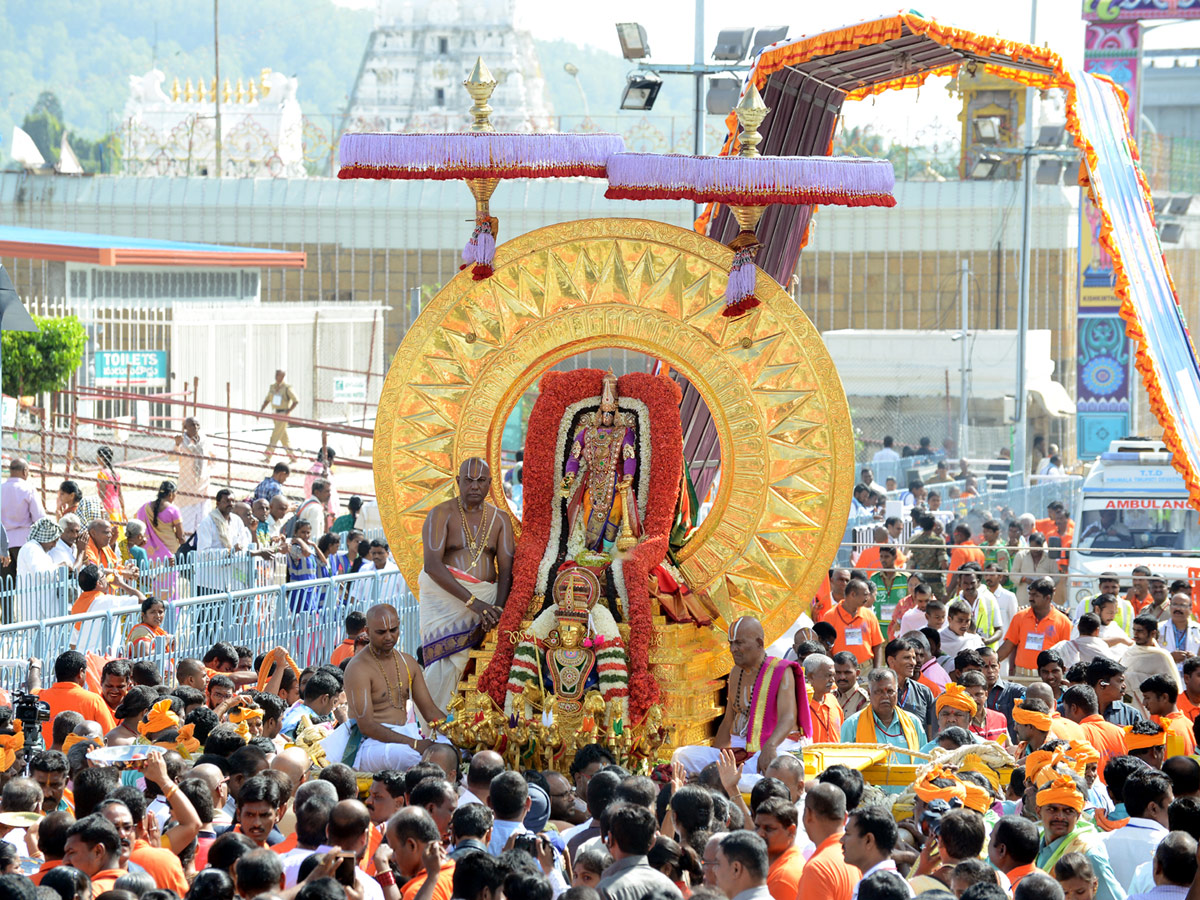
[{"label": "thick red flower garland arching around the upper idol", "polygon": [[[600,394],[604,372],[581,368],[574,372],[547,372],[541,392],[529,416],[527,446],[557,448],[558,430],[566,407]],[[623,562],[625,593],[629,601],[629,714],[640,722],[646,710],[659,700],[659,685],[649,672],[653,610],[649,574],[667,552],[667,536],[674,517],[679,479],[683,472],[683,428],[679,422],[679,386],[664,376],[631,372],[617,382],[623,397],[640,400],[649,412],[650,479],[642,521],[643,538]],[[504,702],[504,689],[512,667],[516,641],[523,619],[532,617],[538,569],[550,540],[551,516],[560,515],[558,502],[557,460],[554,452],[530,454],[523,470],[524,515],[521,541],[512,563],[512,589],[500,616],[499,644],[492,661],[479,678],[479,689]]]}]

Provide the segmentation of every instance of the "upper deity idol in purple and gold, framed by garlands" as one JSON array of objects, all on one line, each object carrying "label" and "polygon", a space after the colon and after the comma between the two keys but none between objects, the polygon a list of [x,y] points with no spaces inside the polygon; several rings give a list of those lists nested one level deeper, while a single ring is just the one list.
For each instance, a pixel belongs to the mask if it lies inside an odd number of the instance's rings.
[{"label": "upper deity idol in purple and gold, framed by garlands", "polygon": [[568,499],[568,552],[628,551],[642,534],[634,496],[632,418],[617,408],[617,377],[604,377],[600,408],[580,420],[559,492]]}]

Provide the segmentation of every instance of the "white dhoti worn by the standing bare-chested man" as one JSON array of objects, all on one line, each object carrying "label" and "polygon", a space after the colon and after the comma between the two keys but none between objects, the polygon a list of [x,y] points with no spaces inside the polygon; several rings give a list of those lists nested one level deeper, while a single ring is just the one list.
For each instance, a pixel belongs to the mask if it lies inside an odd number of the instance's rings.
[{"label": "white dhoti worn by the standing bare-chested man", "polygon": [[[455,581],[470,595],[487,604],[496,602],[496,584],[475,581],[466,572],[450,570]],[[470,659],[472,635],[482,619],[467,604],[445,590],[425,570],[416,578],[421,601],[418,605],[421,628],[421,661],[425,684],[438,709],[445,709]]]}]

